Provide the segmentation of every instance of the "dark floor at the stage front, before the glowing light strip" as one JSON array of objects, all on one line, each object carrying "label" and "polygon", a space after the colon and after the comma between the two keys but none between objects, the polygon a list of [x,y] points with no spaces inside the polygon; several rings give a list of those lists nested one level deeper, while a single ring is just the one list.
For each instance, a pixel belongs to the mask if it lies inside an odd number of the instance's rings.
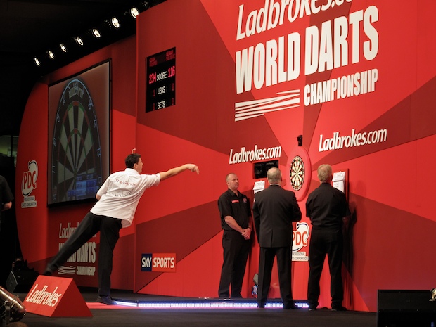
[{"label": "dark floor at the stage front, before the glowing light strip", "polygon": [[29,327],[262,326],[376,327],[376,314],[281,309],[96,309],[92,318],[49,318],[27,314]]}]

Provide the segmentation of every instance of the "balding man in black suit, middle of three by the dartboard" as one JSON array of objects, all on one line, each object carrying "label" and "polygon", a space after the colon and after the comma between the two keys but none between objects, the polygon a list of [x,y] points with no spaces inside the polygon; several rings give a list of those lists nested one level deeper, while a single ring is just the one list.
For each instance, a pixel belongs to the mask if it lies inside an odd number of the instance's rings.
[{"label": "balding man in black suit, middle of three by the dartboard", "polygon": [[281,171],[268,170],[269,187],[255,194],[253,217],[260,245],[257,306],[265,307],[271,283],[274,257],[277,256],[278,282],[283,309],[295,309],[291,286],[292,222],[301,220],[295,193],[281,188]]}]

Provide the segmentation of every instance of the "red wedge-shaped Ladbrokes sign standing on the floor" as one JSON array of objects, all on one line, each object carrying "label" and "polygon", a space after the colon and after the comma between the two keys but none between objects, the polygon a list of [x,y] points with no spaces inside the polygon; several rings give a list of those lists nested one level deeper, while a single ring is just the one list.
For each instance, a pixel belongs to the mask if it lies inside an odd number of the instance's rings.
[{"label": "red wedge-shaped Ladbrokes sign standing on the floor", "polygon": [[72,278],[38,276],[23,304],[41,316],[92,316]]}]

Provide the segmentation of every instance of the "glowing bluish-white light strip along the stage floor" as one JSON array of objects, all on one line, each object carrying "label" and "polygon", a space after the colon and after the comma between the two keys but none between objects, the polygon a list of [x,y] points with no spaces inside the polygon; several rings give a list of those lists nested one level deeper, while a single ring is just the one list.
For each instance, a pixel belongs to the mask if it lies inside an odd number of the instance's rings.
[{"label": "glowing bluish-white light strip along the stage floor", "polygon": [[[126,307],[139,307],[143,309],[249,309],[257,308],[257,301],[253,300],[232,300],[232,299],[197,299],[197,300],[158,300],[158,301],[135,301],[115,300],[118,305]],[[295,305],[302,309],[309,308],[307,302],[295,301]],[[269,300],[265,304],[267,309],[282,309],[281,300]]]}]

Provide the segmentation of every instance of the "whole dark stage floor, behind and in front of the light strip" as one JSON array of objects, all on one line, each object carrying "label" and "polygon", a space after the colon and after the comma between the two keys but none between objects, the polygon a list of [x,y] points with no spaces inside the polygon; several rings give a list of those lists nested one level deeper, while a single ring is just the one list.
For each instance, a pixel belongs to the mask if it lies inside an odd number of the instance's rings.
[{"label": "whole dark stage floor, behind and in front of the light strip", "polygon": [[[281,307],[255,307],[255,299],[246,299],[252,307],[228,306],[229,301],[203,298],[160,297],[114,290],[112,297],[126,305],[107,306],[96,302],[96,290],[80,290],[92,317],[46,317],[27,313],[15,327],[94,327],[94,326],[262,326],[262,327],[376,327],[373,312],[332,312],[321,308],[283,310]],[[26,294],[19,294],[21,300]],[[215,305],[222,302],[222,305]],[[232,301],[231,301],[232,302]],[[278,303],[279,300],[271,300]],[[120,302],[119,302],[120,303]],[[140,304],[161,304],[141,306]],[[210,305],[213,303],[213,305]],[[238,302],[234,302],[238,303]],[[233,304],[234,304],[233,303]],[[188,304],[188,305],[187,305]],[[195,304],[195,305],[194,305]],[[130,305],[130,306],[129,306]]]}]

